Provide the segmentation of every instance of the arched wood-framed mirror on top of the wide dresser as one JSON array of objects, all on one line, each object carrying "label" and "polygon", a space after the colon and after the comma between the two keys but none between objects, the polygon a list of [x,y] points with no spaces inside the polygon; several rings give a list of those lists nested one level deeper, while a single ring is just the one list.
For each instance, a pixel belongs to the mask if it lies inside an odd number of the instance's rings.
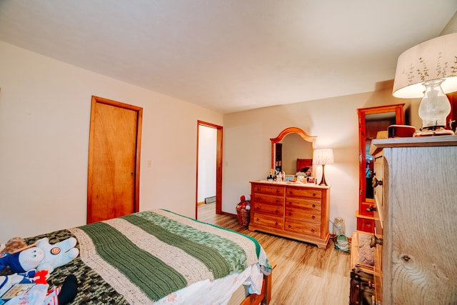
[{"label": "arched wood-framed mirror on top of the wide dresser", "polygon": [[[288,127],[271,140],[271,168],[294,175],[311,166],[317,136],[310,136],[298,127]],[[314,173],[314,168],[313,168]]]}]

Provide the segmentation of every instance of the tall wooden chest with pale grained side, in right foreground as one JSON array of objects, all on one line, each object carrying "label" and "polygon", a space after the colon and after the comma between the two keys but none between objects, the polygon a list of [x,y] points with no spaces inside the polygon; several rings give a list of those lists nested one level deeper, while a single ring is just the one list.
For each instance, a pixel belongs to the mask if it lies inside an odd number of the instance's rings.
[{"label": "tall wooden chest with pale grained side, in right foreground", "polygon": [[373,140],[376,304],[457,304],[457,136]]}]

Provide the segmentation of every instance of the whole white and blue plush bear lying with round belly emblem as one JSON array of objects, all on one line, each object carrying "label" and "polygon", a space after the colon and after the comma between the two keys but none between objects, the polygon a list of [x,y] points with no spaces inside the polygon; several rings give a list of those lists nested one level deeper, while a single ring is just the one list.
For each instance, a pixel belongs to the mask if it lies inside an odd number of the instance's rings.
[{"label": "whole white and blue plush bear lying with round belly emblem", "polygon": [[36,241],[35,246],[13,254],[0,254],[0,271],[9,266],[12,273],[23,273],[31,269],[47,270],[49,273],[59,266],[68,264],[79,255],[74,248],[76,239],[70,237],[56,244],[49,244],[45,237]]}]

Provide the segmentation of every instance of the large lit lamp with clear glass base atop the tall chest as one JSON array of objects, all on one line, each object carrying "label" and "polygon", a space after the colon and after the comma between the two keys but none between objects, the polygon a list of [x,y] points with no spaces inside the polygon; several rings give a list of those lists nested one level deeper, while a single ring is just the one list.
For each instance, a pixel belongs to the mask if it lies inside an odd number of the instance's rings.
[{"label": "large lit lamp with clear glass base atop the tall chest", "polygon": [[446,130],[451,103],[446,93],[457,91],[457,33],[438,36],[398,56],[393,96],[422,98],[418,114],[422,128],[414,136],[454,134]]}]

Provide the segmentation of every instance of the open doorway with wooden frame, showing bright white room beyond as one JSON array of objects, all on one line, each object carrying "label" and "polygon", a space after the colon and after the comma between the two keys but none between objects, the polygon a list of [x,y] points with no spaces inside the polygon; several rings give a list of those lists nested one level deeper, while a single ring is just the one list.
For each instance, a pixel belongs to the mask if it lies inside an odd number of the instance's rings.
[{"label": "open doorway with wooden frame, showing bright white room beyond", "polygon": [[222,126],[197,121],[196,219],[199,204],[222,212]]}]

